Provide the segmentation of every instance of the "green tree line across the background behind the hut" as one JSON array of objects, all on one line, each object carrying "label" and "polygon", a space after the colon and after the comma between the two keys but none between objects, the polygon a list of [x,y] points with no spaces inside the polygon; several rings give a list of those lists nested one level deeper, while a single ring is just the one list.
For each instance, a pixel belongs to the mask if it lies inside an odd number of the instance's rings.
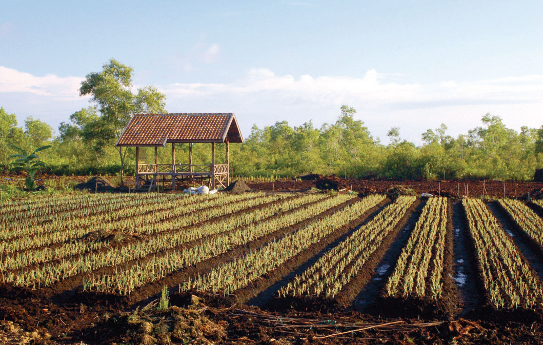
[{"label": "green tree line across the background behind the hut", "polygon": [[[81,95],[90,95],[93,106],[74,112],[60,124],[59,135],[39,119],[17,124],[15,114],[0,108],[0,168],[7,170],[14,150],[29,152],[43,145],[47,170],[54,174],[129,174],[135,169],[134,148],[115,143],[134,113],[163,113],[165,95],[148,86],[131,91],[132,68],[116,60],[102,71],[86,76]],[[335,122],[315,127],[306,122],[291,126],[287,121],[258,128],[254,125],[243,144],[230,146],[231,173],[238,176],[294,177],[309,172],[362,178],[443,180],[506,178],[532,180],[543,168],[543,125],[539,129],[507,128],[500,117],[485,114],[482,125],[452,137],[442,124],[421,133],[424,144],[401,138],[393,127],[389,143],[374,138],[356,110],[342,106]],[[224,145],[217,145],[222,162]],[[194,164],[210,164],[210,144],[194,144]],[[160,163],[171,162],[171,148],[159,148]],[[140,159],[154,162],[153,148],[141,148]],[[188,162],[188,144],[176,145],[176,160]]]}]

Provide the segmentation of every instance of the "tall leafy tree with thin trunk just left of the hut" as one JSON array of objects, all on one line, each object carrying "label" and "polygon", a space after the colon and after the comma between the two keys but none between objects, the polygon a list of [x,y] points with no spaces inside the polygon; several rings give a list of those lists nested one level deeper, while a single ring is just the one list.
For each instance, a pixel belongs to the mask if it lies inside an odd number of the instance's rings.
[{"label": "tall leafy tree with thin trunk just left of the hut", "polygon": [[[83,124],[85,135],[98,138],[96,148],[115,145],[124,127],[135,113],[163,113],[166,95],[155,87],[147,86],[133,94],[131,67],[115,59],[102,66],[102,71],[87,74],[81,82],[79,94],[91,95],[90,102],[96,105],[100,116]],[[128,148],[116,147],[121,161],[121,186],[123,185],[124,161]]]}]

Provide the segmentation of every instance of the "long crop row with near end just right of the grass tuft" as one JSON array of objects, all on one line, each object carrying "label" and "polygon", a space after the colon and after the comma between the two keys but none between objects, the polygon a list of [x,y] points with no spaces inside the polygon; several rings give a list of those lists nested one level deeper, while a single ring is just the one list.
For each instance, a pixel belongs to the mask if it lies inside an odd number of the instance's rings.
[{"label": "long crop row with near end just right of the grass tuft", "polygon": [[300,254],[315,242],[348,225],[382,200],[382,196],[368,196],[364,200],[353,203],[325,218],[312,221],[287,237],[215,267],[211,272],[197,276],[180,285],[179,288],[181,291],[191,289],[213,293],[220,291],[224,295],[229,295],[255,282],[264,274],[275,270],[289,258]]}]

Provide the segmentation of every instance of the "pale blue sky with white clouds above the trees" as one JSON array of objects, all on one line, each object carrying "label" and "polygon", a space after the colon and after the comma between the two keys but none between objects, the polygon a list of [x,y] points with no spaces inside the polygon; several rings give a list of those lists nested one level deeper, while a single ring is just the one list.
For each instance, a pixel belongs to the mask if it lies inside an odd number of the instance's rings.
[{"label": "pale blue sky with white clouds above the trees", "polygon": [[487,112],[543,124],[543,2],[21,2],[0,5],[0,106],[54,127],[87,106],[87,73],[115,58],[171,112],[253,123],[334,122],[342,104],[376,137]]}]

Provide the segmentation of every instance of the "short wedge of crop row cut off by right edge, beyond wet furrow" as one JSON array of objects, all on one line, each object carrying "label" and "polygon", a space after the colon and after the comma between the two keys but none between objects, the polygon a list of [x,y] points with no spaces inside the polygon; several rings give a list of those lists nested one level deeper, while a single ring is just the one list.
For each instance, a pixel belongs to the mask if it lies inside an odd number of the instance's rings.
[{"label": "short wedge of crop row cut off by right edge, beyond wet furrow", "polygon": [[500,199],[498,203],[513,218],[522,231],[543,248],[543,219],[522,201]]}]

